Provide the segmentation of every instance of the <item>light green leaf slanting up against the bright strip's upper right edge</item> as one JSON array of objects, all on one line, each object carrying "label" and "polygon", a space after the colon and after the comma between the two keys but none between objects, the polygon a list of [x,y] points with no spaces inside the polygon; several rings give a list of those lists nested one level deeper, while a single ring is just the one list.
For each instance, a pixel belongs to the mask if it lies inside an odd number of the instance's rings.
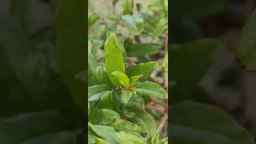
[{"label": "light green leaf slanting up against the bright strip's upper right edge", "polygon": [[157,38],[159,35],[164,33],[168,29],[168,18],[161,18],[156,24],[152,37]]}]

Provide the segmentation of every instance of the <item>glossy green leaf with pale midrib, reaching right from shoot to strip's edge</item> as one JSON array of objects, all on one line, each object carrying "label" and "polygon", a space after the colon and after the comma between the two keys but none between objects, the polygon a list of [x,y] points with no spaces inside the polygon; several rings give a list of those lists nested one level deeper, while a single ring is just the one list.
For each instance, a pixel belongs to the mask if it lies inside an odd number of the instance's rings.
[{"label": "glossy green leaf with pale midrib, reaching right from shoot to strip's edge", "polygon": [[136,86],[138,94],[142,94],[142,96],[153,96],[156,98],[167,98],[167,92],[154,82],[141,82]]}]

